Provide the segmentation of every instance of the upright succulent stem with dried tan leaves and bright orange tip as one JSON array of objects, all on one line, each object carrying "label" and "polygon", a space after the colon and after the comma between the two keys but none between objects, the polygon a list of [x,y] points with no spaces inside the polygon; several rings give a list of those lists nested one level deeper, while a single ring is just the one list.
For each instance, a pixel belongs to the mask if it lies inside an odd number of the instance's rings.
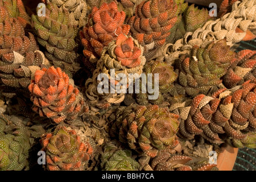
[{"label": "upright succulent stem with dried tan leaves and bright orange tip", "polygon": [[[105,73],[107,77],[113,78],[118,77],[118,74],[123,74],[128,81],[129,74],[136,74],[137,76],[135,75],[135,78],[137,78],[141,75],[143,65],[146,62],[142,54],[143,47],[138,44],[137,40],[134,40],[130,36],[127,37],[126,35],[119,34],[117,40],[109,43],[109,46],[102,50],[102,55],[98,60],[93,77],[86,81],[86,85],[88,85],[86,86],[86,96],[91,100],[91,104],[98,104],[99,100],[102,100],[106,104],[118,104],[122,102],[125,98],[125,92],[98,93],[98,76],[100,73]],[[111,72],[111,69],[114,69],[114,74]],[[118,83],[115,79],[114,86],[118,85]],[[126,85],[127,88],[128,86],[129,84]]]}]

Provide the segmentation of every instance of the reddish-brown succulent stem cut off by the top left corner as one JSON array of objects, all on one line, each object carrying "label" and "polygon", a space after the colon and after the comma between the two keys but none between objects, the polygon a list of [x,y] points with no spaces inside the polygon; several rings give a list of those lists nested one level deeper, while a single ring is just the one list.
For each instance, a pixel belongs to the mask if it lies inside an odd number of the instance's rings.
[{"label": "reddish-brown succulent stem cut off by the top left corner", "polygon": [[26,13],[26,9],[22,3],[22,0],[1,1],[0,6],[0,9],[2,7],[6,9],[10,18],[17,18],[21,22],[23,28],[26,26],[26,24],[31,23],[30,16]]}]

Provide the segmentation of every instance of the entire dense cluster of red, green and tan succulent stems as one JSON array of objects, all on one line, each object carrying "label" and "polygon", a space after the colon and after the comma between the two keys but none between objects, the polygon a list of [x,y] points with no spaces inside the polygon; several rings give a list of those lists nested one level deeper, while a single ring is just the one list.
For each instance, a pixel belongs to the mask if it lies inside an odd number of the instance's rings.
[{"label": "entire dense cluster of red, green and tan succulent stems", "polygon": [[256,148],[256,51],[233,47],[256,38],[254,0],[218,17],[184,0],[41,2],[0,0],[0,171],[38,151],[49,171],[214,171],[186,144]]}]

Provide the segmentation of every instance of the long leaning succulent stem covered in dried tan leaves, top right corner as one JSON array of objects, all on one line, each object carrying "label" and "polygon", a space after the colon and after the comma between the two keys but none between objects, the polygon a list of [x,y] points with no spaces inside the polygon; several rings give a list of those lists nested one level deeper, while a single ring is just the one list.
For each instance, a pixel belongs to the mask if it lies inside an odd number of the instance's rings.
[{"label": "long leaning succulent stem covered in dried tan leaves, top right corner", "polygon": [[[218,19],[208,20],[201,28],[194,32],[188,32],[183,38],[175,42],[171,49],[178,52],[172,52],[171,55],[176,58],[179,52],[182,53],[188,47],[190,49],[194,45],[205,44],[213,40],[226,39],[229,46],[234,46],[235,43],[241,42],[244,38],[246,40],[254,39],[254,34],[256,34],[255,20],[251,18],[253,17],[254,8],[252,9],[252,7],[254,5],[255,2],[251,0],[234,2],[230,13],[226,13]],[[232,27],[230,27],[231,24],[233,24]]]}]

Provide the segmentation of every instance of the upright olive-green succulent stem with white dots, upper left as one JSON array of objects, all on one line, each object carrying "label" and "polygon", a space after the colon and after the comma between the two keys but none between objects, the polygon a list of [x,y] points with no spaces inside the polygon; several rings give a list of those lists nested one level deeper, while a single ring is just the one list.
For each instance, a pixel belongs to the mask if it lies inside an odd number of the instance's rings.
[{"label": "upright olive-green succulent stem with white dots, upper left", "polygon": [[58,9],[56,5],[46,5],[45,16],[32,15],[38,42],[46,48],[46,57],[56,67],[64,71],[76,72],[79,69],[75,36],[78,29],[70,22],[66,9]]}]

